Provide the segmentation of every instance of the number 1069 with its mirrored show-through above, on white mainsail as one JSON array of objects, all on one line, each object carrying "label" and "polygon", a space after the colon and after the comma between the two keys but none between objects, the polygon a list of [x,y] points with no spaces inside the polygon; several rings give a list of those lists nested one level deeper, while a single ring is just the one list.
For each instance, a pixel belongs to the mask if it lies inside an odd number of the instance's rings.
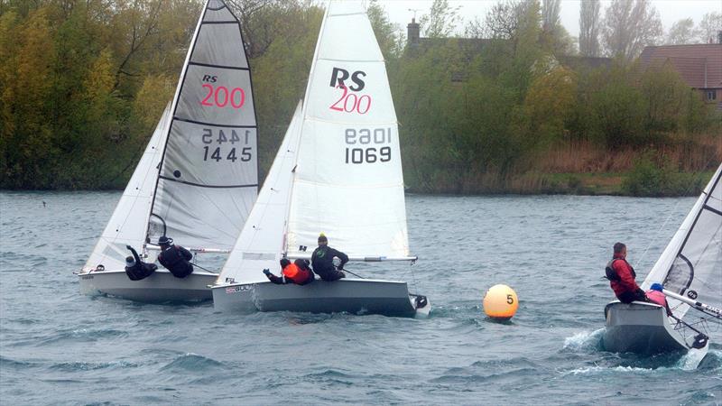
[{"label": "number 1069 with its mirrored show-through above, on white mainsail", "polygon": [[347,128],[346,163],[391,161],[391,128]]}]

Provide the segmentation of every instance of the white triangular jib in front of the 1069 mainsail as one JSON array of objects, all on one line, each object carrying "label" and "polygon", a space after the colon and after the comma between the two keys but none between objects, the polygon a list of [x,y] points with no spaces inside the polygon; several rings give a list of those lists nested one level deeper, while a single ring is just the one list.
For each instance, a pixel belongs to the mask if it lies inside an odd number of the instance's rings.
[{"label": "white triangular jib in front of the 1069 mainsail", "polygon": [[301,102],[296,107],[271,170],[258,194],[241,235],[228,255],[217,283],[225,281],[266,281],[262,271],[275,270],[283,251],[288,220],[293,168],[301,126]]}]

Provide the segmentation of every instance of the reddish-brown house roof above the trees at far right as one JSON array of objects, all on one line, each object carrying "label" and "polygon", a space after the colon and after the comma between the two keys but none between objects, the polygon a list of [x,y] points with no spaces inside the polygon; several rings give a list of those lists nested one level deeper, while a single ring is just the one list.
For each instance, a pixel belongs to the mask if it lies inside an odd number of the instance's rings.
[{"label": "reddish-brown house roof above the trees at far right", "polygon": [[639,60],[643,69],[669,61],[690,88],[722,88],[722,44],[646,47]]}]

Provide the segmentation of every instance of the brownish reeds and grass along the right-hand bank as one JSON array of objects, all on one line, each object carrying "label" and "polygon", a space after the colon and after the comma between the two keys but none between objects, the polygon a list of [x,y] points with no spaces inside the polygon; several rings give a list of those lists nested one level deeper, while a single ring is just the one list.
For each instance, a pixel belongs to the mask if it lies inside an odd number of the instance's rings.
[{"label": "brownish reeds and grass along the right-hand bank", "polygon": [[659,146],[615,152],[577,141],[533,153],[506,173],[481,166],[439,169],[422,180],[412,179],[409,189],[442,194],[694,196],[720,161],[718,134],[669,137]]}]

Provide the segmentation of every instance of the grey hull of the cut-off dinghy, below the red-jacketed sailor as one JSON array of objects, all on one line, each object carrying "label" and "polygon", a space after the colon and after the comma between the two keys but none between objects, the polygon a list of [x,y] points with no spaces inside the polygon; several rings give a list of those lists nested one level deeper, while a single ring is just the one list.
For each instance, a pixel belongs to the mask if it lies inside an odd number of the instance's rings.
[{"label": "grey hull of the cut-off dinghy, below the red-jacketed sailor", "polygon": [[661,306],[614,301],[606,305],[605,312],[602,346],[606,351],[658,354],[690,349],[682,331],[674,330]]}]

